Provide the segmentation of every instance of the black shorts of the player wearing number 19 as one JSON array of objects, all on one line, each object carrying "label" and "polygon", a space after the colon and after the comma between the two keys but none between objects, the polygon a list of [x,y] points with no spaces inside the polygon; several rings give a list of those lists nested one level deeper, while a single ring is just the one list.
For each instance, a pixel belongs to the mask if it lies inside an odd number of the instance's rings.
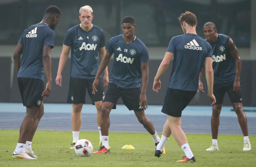
[{"label": "black shorts of the player wearing number 19", "polygon": [[114,103],[113,109],[116,109],[118,99],[121,97],[123,104],[134,111],[143,111],[139,105],[139,96],[141,95],[141,88],[122,88],[113,83],[109,83],[103,96],[102,102]]}]

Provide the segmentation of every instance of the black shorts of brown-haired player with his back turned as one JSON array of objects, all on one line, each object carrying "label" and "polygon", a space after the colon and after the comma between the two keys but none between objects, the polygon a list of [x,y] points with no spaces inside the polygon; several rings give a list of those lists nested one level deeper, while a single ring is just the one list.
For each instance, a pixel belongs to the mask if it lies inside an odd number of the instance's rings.
[{"label": "black shorts of brown-haired player with his back turned", "polygon": [[168,87],[162,112],[170,116],[181,117],[181,112],[190,103],[196,93],[197,91],[171,89]]}]

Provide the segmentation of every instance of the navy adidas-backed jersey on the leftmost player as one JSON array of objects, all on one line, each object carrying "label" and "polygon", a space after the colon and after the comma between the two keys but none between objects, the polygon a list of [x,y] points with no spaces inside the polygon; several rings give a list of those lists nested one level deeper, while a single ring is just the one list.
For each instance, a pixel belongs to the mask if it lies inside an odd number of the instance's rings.
[{"label": "navy adidas-backed jersey on the leftmost player", "polygon": [[19,43],[23,44],[23,51],[18,77],[44,80],[43,46],[53,48],[54,38],[54,31],[45,23],[32,25],[22,33]]}]

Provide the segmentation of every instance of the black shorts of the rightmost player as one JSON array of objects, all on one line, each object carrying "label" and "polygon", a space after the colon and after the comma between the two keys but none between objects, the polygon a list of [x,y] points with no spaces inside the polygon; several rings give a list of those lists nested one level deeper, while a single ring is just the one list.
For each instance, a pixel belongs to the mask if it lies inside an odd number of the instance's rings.
[{"label": "black shorts of the rightmost player", "polygon": [[231,103],[242,103],[241,87],[240,92],[237,94],[233,90],[233,84],[234,81],[221,84],[213,84],[213,94],[216,98],[215,105],[223,104],[223,99],[226,92],[229,95]]}]

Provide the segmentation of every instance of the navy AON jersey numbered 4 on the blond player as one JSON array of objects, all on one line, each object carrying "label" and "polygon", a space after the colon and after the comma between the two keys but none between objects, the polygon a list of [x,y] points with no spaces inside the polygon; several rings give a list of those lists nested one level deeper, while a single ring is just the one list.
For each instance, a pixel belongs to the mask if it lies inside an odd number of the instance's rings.
[{"label": "navy AON jersey numbered 4 on the blond player", "polygon": [[63,44],[71,47],[70,77],[95,78],[99,69],[99,48],[106,45],[103,30],[93,25],[86,32],[78,24],[67,31]]}]

